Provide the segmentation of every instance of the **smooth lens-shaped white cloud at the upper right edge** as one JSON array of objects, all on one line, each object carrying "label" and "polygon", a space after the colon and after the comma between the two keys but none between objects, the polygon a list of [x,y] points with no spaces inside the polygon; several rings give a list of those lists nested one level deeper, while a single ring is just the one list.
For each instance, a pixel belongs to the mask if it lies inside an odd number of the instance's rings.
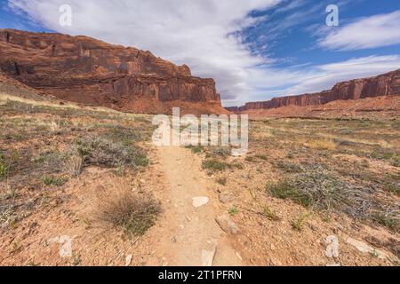
[{"label": "smooth lens-shaped white cloud at the upper right edge", "polygon": [[319,42],[332,50],[362,50],[400,43],[400,11],[356,20],[334,30]]}]

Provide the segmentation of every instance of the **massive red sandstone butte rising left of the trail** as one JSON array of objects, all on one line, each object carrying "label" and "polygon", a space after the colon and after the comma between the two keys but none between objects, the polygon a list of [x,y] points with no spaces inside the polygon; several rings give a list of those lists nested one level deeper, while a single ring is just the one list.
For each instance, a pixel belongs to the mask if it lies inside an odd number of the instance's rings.
[{"label": "massive red sandstone butte rising left of the trail", "polygon": [[228,113],[215,82],[140,51],[87,36],[0,29],[0,71],[43,95],[141,114]]}]

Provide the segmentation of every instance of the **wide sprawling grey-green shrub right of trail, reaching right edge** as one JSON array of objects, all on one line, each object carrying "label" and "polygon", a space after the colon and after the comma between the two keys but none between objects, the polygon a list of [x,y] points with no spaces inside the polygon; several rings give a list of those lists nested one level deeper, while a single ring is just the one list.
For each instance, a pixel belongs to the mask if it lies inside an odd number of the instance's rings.
[{"label": "wide sprawling grey-green shrub right of trail, reaching right edge", "polygon": [[322,166],[305,168],[293,177],[266,185],[267,193],[307,208],[336,210],[398,230],[398,202],[375,186],[352,185]]}]

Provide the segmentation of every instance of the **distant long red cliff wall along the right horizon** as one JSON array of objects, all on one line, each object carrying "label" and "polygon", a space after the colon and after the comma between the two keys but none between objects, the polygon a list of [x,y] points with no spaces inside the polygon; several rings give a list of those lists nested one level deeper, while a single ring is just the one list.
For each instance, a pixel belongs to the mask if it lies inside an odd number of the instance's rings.
[{"label": "distant long red cliff wall along the right horizon", "polygon": [[337,83],[332,90],[300,96],[250,102],[245,106],[227,107],[232,112],[274,109],[283,106],[321,106],[336,100],[354,100],[400,95],[400,69],[371,78]]}]

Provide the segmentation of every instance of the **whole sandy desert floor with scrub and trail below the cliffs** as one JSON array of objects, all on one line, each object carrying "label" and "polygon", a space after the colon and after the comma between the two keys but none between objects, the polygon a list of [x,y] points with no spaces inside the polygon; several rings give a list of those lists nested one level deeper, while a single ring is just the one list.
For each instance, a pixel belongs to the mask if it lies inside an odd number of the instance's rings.
[{"label": "whole sandy desert floor with scrub and trail below the cliffs", "polygon": [[398,119],[254,121],[234,157],[156,147],[147,115],[0,114],[1,265],[399,264]]}]

